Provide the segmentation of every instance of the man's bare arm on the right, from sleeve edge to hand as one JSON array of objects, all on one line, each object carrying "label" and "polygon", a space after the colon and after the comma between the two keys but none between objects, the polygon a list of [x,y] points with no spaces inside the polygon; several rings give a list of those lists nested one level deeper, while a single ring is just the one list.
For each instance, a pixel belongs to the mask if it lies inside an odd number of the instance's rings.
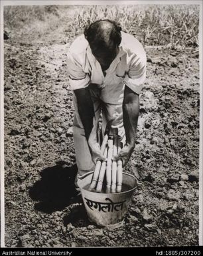
[{"label": "man's bare arm on the right, from sleeve edge to hand", "polygon": [[121,152],[114,158],[114,160],[121,158],[123,166],[127,164],[133,149],[135,148],[135,132],[137,130],[138,116],[139,94],[125,86],[123,98],[123,124],[125,128],[126,143]]}]

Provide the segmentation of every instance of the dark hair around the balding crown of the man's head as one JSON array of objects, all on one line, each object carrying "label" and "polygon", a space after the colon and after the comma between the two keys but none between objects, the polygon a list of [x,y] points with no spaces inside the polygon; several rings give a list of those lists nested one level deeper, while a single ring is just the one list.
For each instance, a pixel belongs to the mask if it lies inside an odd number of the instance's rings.
[{"label": "dark hair around the balding crown of the man's head", "polygon": [[[103,29],[107,25],[107,29]],[[84,35],[91,45],[108,48],[119,46],[121,43],[121,27],[115,21],[101,19],[86,27]]]}]

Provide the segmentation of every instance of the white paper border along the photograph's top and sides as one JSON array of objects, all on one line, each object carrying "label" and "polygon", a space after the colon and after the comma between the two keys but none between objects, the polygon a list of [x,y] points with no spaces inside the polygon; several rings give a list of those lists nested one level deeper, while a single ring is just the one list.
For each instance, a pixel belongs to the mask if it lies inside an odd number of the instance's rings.
[{"label": "white paper border along the photograph's top and sides", "polygon": [[4,199],[4,105],[3,105],[3,68],[4,68],[4,59],[3,59],[3,7],[7,5],[180,5],[180,4],[188,4],[188,5],[200,5],[200,168],[199,168],[199,245],[203,245],[203,176],[202,176],[202,1],[1,1],[1,10],[0,10],[0,17],[1,17],[1,34],[0,34],[0,59],[1,59],[1,69],[0,69],[0,142],[1,142],[1,152],[0,152],[0,170],[1,170],[1,247],[5,247],[5,199]]}]

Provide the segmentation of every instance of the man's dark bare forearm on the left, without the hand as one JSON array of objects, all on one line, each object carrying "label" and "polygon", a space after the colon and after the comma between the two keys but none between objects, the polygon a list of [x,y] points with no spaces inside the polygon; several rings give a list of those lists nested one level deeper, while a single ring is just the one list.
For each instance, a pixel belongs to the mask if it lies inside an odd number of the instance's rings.
[{"label": "man's dark bare forearm on the left, without the hand", "polygon": [[94,105],[90,95],[90,90],[88,87],[74,90],[76,94],[77,103],[78,103],[78,113],[80,119],[84,126],[86,138],[88,140],[90,132],[93,127],[93,118],[94,118]]}]

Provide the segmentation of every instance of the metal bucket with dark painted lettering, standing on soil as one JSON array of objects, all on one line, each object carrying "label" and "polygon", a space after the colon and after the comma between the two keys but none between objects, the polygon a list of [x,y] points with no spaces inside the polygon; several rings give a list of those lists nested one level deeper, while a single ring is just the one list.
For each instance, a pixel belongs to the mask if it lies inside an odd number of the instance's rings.
[{"label": "metal bucket with dark painted lettering, standing on soil", "polygon": [[90,185],[93,173],[88,172],[78,179],[88,218],[100,226],[120,227],[137,187],[137,179],[131,174],[123,173],[123,184],[129,186],[129,190],[120,193],[96,193],[84,189]]}]

